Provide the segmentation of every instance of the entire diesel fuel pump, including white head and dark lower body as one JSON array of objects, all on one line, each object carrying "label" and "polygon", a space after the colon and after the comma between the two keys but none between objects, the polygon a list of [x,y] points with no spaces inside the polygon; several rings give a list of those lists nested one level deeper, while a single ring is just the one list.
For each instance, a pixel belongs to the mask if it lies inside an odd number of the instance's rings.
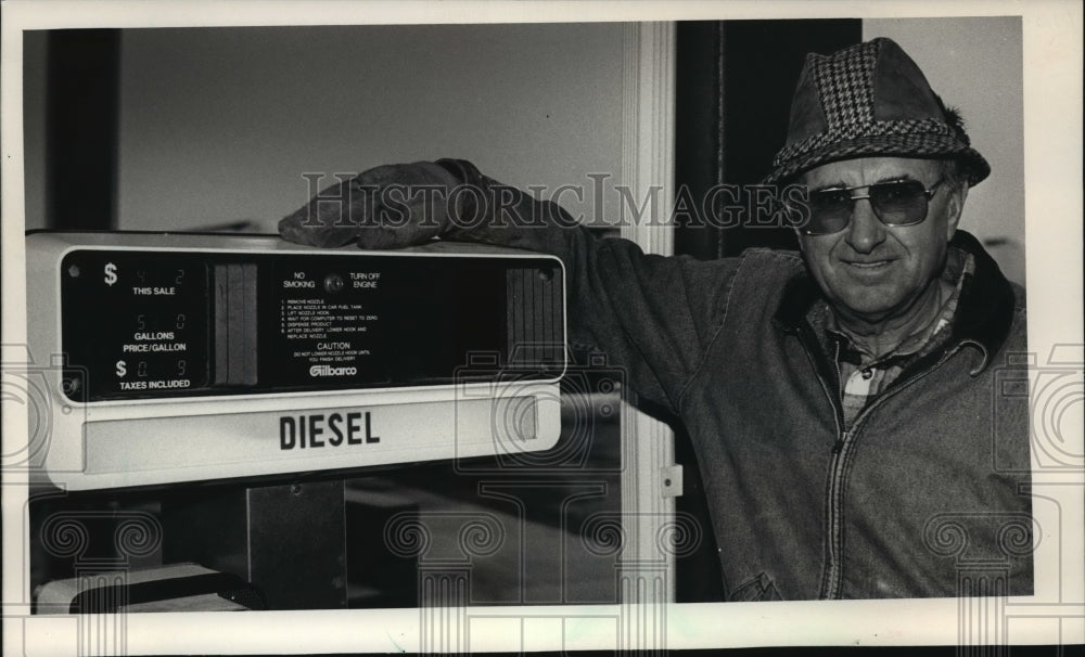
[{"label": "entire diesel fuel pump, including white head and dark lower body", "polygon": [[38,614],[344,606],[346,518],[380,507],[345,473],[558,441],[557,258],[124,232],[26,254]]}]

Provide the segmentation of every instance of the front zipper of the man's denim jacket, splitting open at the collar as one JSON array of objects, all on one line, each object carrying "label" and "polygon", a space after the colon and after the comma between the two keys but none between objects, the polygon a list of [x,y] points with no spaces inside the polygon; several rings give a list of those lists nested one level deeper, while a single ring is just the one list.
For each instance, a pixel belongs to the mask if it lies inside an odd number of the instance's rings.
[{"label": "front zipper of the man's denim jacket, splitting open at the collar", "polygon": [[[852,423],[852,428],[846,431],[843,430],[844,410],[841,405],[842,402],[840,401],[843,398],[844,386],[844,382],[840,378],[840,345],[837,344],[837,351],[833,356],[833,366],[837,369],[838,388],[838,395],[835,398],[833,398],[832,394],[829,392],[829,386],[826,384],[825,377],[821,376],[815,366],[815,375],[821,384],[821,389],[825,390],[826,397],[829,398],[829,403],[833,409],[833,420],[837,424],[837,441],[832,446],[832,458],[829,462],[829,481],[826,491],[826,563],[821,570],[821,591],[818,594],[820,600],[837,600],[840,597],[841,581],[843,580],[841,556],[844,549],[844,480],[847,475],[847,456],[851,451],[850,448],[855,443],[855,436],[858,434],[859,428],[861,428],[863,421],[866,420],[866,417],[885,399],[896,395],[915,382],[934,372],[934,370],[949,360],[949,358],[956,353],[960,347],[961,345],[957,345],[939,359],[936,363],[931,365],[930,369],[915,374],[911,378],[908,378],[901,385],[896,386],[893,390],[879,395],[870,403],[870,405],[859,412],[859,414],[855,417],[855,421]],[[805,350],[812,364],[815,364],[813,356],[810,356],[809,347],[807,346]]]}]

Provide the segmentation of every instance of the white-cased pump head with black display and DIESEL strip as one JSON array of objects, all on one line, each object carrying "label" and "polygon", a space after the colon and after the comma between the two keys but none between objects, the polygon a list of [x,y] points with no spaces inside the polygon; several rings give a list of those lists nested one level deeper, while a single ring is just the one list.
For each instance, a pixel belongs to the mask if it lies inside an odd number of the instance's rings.
[{"label": "white-cased pump head with black display and DIESEL strip", "polygon": [[[557,258],[449,243],[375,253],[275,236],[52,232],[27,236],[27,258],[31,353],[50,363],[55,411],[40,451],[58,484],[557,440]],[[336,453],[322,462],[321,451]]]}]

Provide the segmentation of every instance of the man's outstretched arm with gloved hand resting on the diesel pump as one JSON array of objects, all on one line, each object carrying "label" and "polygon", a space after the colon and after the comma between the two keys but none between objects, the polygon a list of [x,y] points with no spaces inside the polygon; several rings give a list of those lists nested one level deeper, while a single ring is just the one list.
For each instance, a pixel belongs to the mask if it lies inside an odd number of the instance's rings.
[{"label": "man's outstretched arm with gloved hand resting on the diesel pump", "polygon": [[[357,241],[386,249],[442,237],[554,255],[565,265],[574,339],[607,353],[639,396],[672,411],[719,319],[716,295],[726,287],[719,278],[735,269],[596,239],[556,203],[456,159],[363,171],[282,219],[279,231],[322,247]],[[687,289],[697,293],[689,297]]]}]

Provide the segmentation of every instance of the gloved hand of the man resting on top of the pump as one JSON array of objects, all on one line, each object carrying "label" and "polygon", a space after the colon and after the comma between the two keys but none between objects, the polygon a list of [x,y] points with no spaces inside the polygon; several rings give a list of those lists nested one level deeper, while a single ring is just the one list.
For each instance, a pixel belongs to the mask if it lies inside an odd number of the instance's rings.
[{"label": "gloved hand of the man resting on top of the pump", "polygon": [[385,165],[332,185],[279,221],[284,240],[310,246],[399,248],[426,242],[450,226],[449,192],[460,181],[429,162]]}]

